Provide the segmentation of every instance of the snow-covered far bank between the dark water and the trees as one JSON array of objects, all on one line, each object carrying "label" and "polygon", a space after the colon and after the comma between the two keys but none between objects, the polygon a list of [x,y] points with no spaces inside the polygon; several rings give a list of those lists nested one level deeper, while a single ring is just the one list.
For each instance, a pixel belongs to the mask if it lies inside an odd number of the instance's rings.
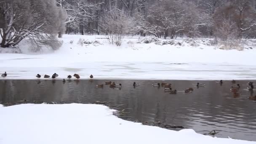
[{"label": "snow-covered far bank between the dark water and the trees", "polygon": [[[35,79],[36,74],[54,72],[59,78],[77,73],[82,79],[88,79],[91,74],[96,79],[256,79],[253,40],[248,40],[249,46],[243,51],[227,51],[211,46],[211,41],[203,38],[157,45],[138,43],[144,37],[125,37],[117,47],[106,39],[96,39],[99,37],[105,36],[63,35],[60,38],[63,45],[57,51],[43,49],[31,53],[27,43],[19,45],[23,54],[0,48],[0,73],[8,73],[5,79]],[[80,39],[97,40],[100,44],[81,44]]]}]

